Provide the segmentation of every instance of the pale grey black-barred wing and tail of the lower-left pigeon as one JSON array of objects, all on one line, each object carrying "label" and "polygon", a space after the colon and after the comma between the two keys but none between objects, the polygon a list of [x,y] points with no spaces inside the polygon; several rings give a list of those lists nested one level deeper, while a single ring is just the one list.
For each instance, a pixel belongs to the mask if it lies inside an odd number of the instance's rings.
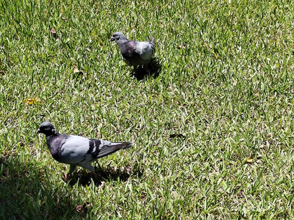
[{"label": "pale grey black-barred wing and tail of the lower-left pigeon", "polygon": [[111,143],[109,141],[69,135],[60,148],[58,161],[73,165],[89,163],[131,146],[131,142]]}]

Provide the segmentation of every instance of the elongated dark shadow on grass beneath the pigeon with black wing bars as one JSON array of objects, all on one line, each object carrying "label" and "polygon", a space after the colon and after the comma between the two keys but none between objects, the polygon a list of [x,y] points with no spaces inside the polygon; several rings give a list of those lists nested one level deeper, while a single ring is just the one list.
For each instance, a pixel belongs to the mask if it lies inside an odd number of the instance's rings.
[{"label": "elongated dark shadow on grass beneath the pigeon with black wing bars", "polygon": [[93,179],[95,185],[101,185],[103,182],[108,180],[120,180],[122,182],[125,182],[130,177],[130,175],[138,177],[141,177],[143,175],[142,170],[136,168],[133,169],[131,166],[126,166],[123,169],[118,168],[116,170],[109,168],[106,171],[103,171],[98,164],[98,167],[95,167],[95,172],[98,174],[97,177],[91,174],[88,170],[81,169],[69,178],[69,184],[73,186],[74,184],[79,182],[79,184],[81,184],[82,186],[86,186],[90,185]]}]

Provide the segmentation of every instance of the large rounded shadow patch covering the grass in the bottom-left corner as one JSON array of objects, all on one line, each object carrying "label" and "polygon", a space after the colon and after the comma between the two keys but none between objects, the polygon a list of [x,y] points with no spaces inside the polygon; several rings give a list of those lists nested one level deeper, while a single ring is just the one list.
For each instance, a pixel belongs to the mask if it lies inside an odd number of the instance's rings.
[{"label": "large rounded shadow patch covering the grass in the bottom-left corner", "polygon": [[68,190],[57,183],[51,185],[37,164],[15,156],[0,159],[0,168],[0,219],[64,219],[75,215]]}]

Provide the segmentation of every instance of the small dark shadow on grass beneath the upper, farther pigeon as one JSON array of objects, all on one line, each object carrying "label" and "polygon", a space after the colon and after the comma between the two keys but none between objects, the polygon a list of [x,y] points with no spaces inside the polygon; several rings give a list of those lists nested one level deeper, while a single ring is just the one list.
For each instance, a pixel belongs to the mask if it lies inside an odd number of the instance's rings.
[{"label": "small dark shadow on grass beneath the upper, farther pigeon", "polygon": [[157,57],[153,57],[150,60],[147,71],[143,69],[142,66],[139,66],[136,71],[133,72],[133,75],[137,80],[143,80],[145,78],[156,79],[161,72],[161,61]]}]

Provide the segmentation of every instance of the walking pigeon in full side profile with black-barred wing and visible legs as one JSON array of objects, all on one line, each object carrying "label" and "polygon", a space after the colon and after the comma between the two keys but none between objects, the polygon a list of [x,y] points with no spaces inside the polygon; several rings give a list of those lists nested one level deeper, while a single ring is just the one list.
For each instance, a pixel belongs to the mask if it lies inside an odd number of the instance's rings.
[{"label": "walking pigeon in full side profile with black-barred wing and visible legs", "polygon": [[132,142],[112,143],[105,140],[61,134],[48,121],[40,125],[37,133],[46,135],[49,151],[55,160],[70,165],[70,171],[66,174],[65,178],[68,178],[73,173],[76,166],[88,169],[97,177],[98,175],[91,165],[93,161],[100,157],[113,154],[120,149],[130,148],[133,145]]}]

